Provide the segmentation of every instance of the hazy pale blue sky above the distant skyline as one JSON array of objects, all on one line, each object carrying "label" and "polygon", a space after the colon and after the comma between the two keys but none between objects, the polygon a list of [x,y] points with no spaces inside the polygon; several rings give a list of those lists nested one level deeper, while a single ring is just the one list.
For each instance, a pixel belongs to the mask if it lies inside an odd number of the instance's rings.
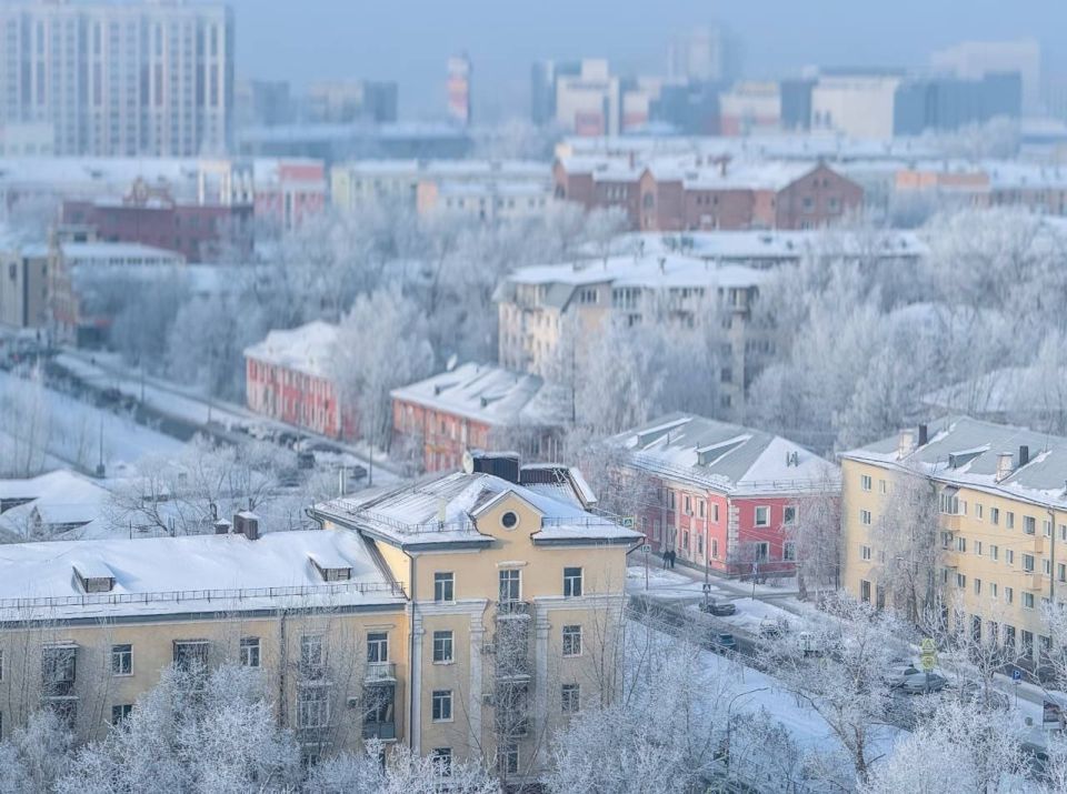
[{"label": "hazy pale blue sky above the distant skyline", "polygon": [[526,114],[531,61],[609,58],[617,71],[662,72],[667,42],[719,19],[754,74],[804,64],[923,66],[966,39],[1037,38],[1063,69],[1067,0],[230,0],[240,77],[390,78],[400,112],[443,108],[445,59],[475,64],[475,112]]}]

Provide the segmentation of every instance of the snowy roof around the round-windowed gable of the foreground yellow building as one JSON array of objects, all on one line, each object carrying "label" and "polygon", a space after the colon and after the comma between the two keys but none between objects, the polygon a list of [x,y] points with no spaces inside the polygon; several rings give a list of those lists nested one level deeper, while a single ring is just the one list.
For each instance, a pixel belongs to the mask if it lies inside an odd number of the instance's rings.
[{"label": "snowy roof around the round-windowed gable of the foreground yellow building", "polygon": [[572,501],[480,472],[455,472],[405,485],[373,499],[336,499],[315,507],[322,519],[402,547],[455,545],[481,547],[492,539],[478,531],[477,514],[491,501],[512,493],[541,514],[534,542],[608,540],[632,543],[640,535]]}]

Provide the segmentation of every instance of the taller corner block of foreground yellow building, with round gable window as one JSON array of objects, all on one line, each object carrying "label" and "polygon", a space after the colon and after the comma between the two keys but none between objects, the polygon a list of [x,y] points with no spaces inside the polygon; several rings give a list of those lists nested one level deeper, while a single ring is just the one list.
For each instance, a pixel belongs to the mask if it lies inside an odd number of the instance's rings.
[{"label": "taller corner block of foreground yellow building, with round gable window", "polygon": [[496,758],[510,781],[537,778],[556,727],[614,695],[626,554],[641,541],[518,473],[511,455],[468,456],[462,472],[315,510],[411,583],[413,750]]}]

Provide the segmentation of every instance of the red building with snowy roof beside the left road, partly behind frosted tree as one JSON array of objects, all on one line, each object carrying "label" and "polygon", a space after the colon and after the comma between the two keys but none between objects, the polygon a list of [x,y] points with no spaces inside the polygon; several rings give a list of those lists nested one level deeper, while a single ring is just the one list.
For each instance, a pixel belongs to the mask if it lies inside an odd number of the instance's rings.
[{"label": "red building with snowy roof beside the left road, partly behind frosted tree", "polygon": [[333,439],[355,439],[356,414],[343,405],[330,370],[337,326],[316,321],[271,331],[245,350],[249,409]]}]

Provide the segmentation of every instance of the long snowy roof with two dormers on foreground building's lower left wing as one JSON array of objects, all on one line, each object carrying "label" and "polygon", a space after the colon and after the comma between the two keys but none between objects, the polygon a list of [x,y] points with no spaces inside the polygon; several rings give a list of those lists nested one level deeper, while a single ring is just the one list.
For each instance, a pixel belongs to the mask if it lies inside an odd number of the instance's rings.
[{"label": "long snowy roof with two dormers on foreground building's lower left wing", "polygon": [[[326,583],[312,556],[345,561],[351,579]],[[72,575],[107,570],[107,593],[86,594]],[[272,532],[0,546],[0,622],[100,620],[279,606],[358,607],[403,603],[351,532]]]}]

